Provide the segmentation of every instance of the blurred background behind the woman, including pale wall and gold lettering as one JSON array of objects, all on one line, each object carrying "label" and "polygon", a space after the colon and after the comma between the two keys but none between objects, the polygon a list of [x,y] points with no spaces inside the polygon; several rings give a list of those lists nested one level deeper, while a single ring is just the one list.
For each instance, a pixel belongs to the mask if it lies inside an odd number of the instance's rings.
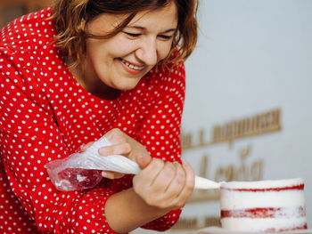
[{"label": "blurred background behind the woman, including pale wall and gold lettering", "polygon": [[[0,0],[0,27],[52,1]],[[216,181],[305,182],[312,228],[312,1],[201,0],[185,62],[182,157]],[[218,190],[194,191],[166,233],[219,225]],[[135,230],[132,233],[155,233]]]}]

